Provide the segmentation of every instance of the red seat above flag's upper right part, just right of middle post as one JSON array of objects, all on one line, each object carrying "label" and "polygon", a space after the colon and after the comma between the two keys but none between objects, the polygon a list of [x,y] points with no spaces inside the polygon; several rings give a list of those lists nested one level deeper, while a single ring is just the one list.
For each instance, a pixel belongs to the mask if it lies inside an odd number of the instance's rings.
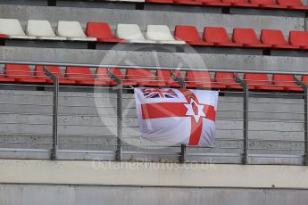
[{"label": "red seat above flag's upper right part, just right of middle post", "polygon": [[215,83],[209,72],[206,71],[187,71],[185,78],[187,87],[223,89],[226,86]]}]

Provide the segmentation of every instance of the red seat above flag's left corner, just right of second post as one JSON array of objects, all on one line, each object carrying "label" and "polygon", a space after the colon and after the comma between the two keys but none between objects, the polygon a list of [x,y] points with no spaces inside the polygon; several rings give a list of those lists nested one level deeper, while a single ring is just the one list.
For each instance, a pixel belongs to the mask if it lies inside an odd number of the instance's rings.
[{"label": "red seat above flag's left corner, just right of second post", "polygon": [[126,70],[127,86],[156,86],[151,70],[128,69]]}]

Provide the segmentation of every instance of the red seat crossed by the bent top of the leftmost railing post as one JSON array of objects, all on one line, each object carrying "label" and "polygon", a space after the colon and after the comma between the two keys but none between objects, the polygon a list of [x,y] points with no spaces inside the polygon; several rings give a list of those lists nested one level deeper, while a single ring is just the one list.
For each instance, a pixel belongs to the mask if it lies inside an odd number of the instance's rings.
[{"label": "red seat crossed by the bent top of the leftmost railing post", "polygon": [[[58,66],[46,66],[46,69],[52,72],[56,77],[59,78],[60,84],[75,84],[74,80],[65,79],[63,77],[61,70]],[[45,79],[46,83],[53,83],[53,80],[45,74],[43,70],[43,66],[40,66],[40,65],[36,66],[34,76],[37,78]]]}]

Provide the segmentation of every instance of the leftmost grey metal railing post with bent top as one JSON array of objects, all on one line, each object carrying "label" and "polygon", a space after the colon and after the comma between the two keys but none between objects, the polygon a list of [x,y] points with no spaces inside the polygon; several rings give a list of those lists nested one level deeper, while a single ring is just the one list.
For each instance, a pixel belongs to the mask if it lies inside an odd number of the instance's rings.
[{"label": "leftmost grey metal railing post with bent top", "polygon": [[58,107],[59,107],[59,79],[54,76],[52,72],[46,70],[44,66],[44,72],[48,77],[50,77],[54,82],[54,103],[53,103],[53,150],[51,154],[51,159],[57,159],[57,152],[59,146],[58,139]]}]

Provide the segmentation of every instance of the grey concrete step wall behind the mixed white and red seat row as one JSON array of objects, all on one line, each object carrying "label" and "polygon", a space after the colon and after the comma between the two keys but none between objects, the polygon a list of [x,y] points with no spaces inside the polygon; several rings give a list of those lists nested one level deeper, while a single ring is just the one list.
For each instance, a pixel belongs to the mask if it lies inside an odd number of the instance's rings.
[{"label": "grey concrete step wall behind the mixed white and red seat row", "polygon": [[225,27],[229,33],[234,28],[281,29],[285,35],[289,30],[304,30],[304,18],[228,15],[216,13],[133,11],[115,9],[47,7],[30,5],[1,5],[0,18],[15,18],[25,24],[29,19],[48,20],[54,26],[60,20],[80,21],[83,26],[87,21],[105,21],[115,28],[117,23],[136,23],[141,29],[147,24],[165,24],[171,30],[178,24],[195,25],[200,32],[205,26]]}]

